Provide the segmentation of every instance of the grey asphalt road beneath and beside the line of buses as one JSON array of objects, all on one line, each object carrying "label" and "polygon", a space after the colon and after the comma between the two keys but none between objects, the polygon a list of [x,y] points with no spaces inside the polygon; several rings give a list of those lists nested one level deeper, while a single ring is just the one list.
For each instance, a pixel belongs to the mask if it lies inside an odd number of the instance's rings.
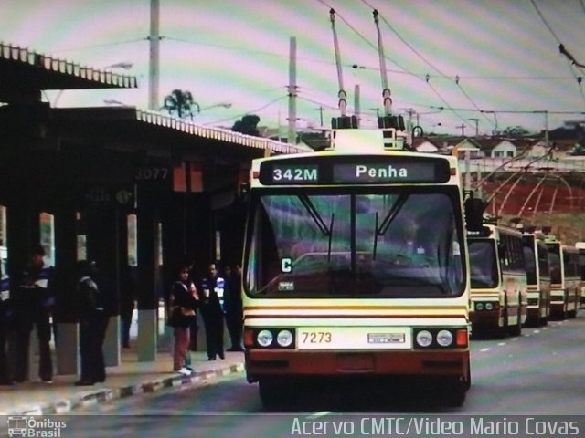
[{"label": "grey asphalt road beneath and beside the line of buses", "polygon": [[314,389],[266,412],[241,373],[92,406],[62,417],[59,436],[585,436],[585,312],[518,338],[474,339],[472,379],[461,408],[390,385]]}]

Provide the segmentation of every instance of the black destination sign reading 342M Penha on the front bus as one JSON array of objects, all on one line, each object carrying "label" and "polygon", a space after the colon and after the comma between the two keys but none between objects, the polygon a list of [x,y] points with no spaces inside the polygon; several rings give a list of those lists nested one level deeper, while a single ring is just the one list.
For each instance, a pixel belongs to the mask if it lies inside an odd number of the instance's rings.
[{"label": "black destination sign reading 342M Penha on the front bus", "polygon": [[434,157],[325,156],[262,162],[265,185],[447,183],[449,162]]}]

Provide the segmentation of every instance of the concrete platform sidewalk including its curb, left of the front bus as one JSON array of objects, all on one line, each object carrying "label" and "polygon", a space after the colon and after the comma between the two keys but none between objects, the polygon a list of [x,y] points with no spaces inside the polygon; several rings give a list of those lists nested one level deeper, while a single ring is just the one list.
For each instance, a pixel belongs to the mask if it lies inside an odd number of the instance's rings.
[{"label": "concrete platform sidewalk including its curb, left of the front bus", "polygon": [[191,352],[194,374],[186,377],[173,370],[168,351],[159,351],[153,362],[139,362],[135,349],[122,349],[121,365],[108,367],[107,379],[94,386],[75,386],[77,375],[55,376],[42,381],[0,386],[0,415],[67,413],[90,404],[144,392],[188,385],[244,370],[244,353],[226,352],[225,360],[207,360],[204,351]]}]

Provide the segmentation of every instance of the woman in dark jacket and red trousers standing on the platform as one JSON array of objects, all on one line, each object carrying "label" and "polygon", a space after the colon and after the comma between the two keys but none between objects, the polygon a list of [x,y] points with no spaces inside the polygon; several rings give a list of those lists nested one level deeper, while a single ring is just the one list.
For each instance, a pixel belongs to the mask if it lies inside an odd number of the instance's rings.
[{"label": "woman in dark jacket and red trousers standing on the platform", "polygon": [[199,294],[197,287],[189,278],[189,266],[179,266],[178,277],[171,289],[169,298],[170,316],[168,325],[174,328],[175,347],[173,349],[173,370],[191,375],[191,353],[189,340],[193,321],[197,318]]}]

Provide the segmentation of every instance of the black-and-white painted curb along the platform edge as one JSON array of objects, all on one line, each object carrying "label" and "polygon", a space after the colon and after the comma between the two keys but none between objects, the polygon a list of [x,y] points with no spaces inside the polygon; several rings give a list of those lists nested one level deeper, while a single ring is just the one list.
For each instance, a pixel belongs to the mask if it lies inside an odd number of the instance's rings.
[{"label": "black-and-white painted curb along the platform edge", "polygon": [[207,383],[217,377],[244,370],[243,363],[229,365],[218,370],[196,371],[192,376],[169,376],[153,381],[122,386],[118,388],[101,388],[74,394],[69,399],[51,401],[40,404],[21,406],[10,412],[2,412],[3,415],[54,415],[71,412],[76,409],[93,406],[106,401],[113,401],[131,397],[133,395],[153,393],[166,388],[176,388],[196,383]]}]

